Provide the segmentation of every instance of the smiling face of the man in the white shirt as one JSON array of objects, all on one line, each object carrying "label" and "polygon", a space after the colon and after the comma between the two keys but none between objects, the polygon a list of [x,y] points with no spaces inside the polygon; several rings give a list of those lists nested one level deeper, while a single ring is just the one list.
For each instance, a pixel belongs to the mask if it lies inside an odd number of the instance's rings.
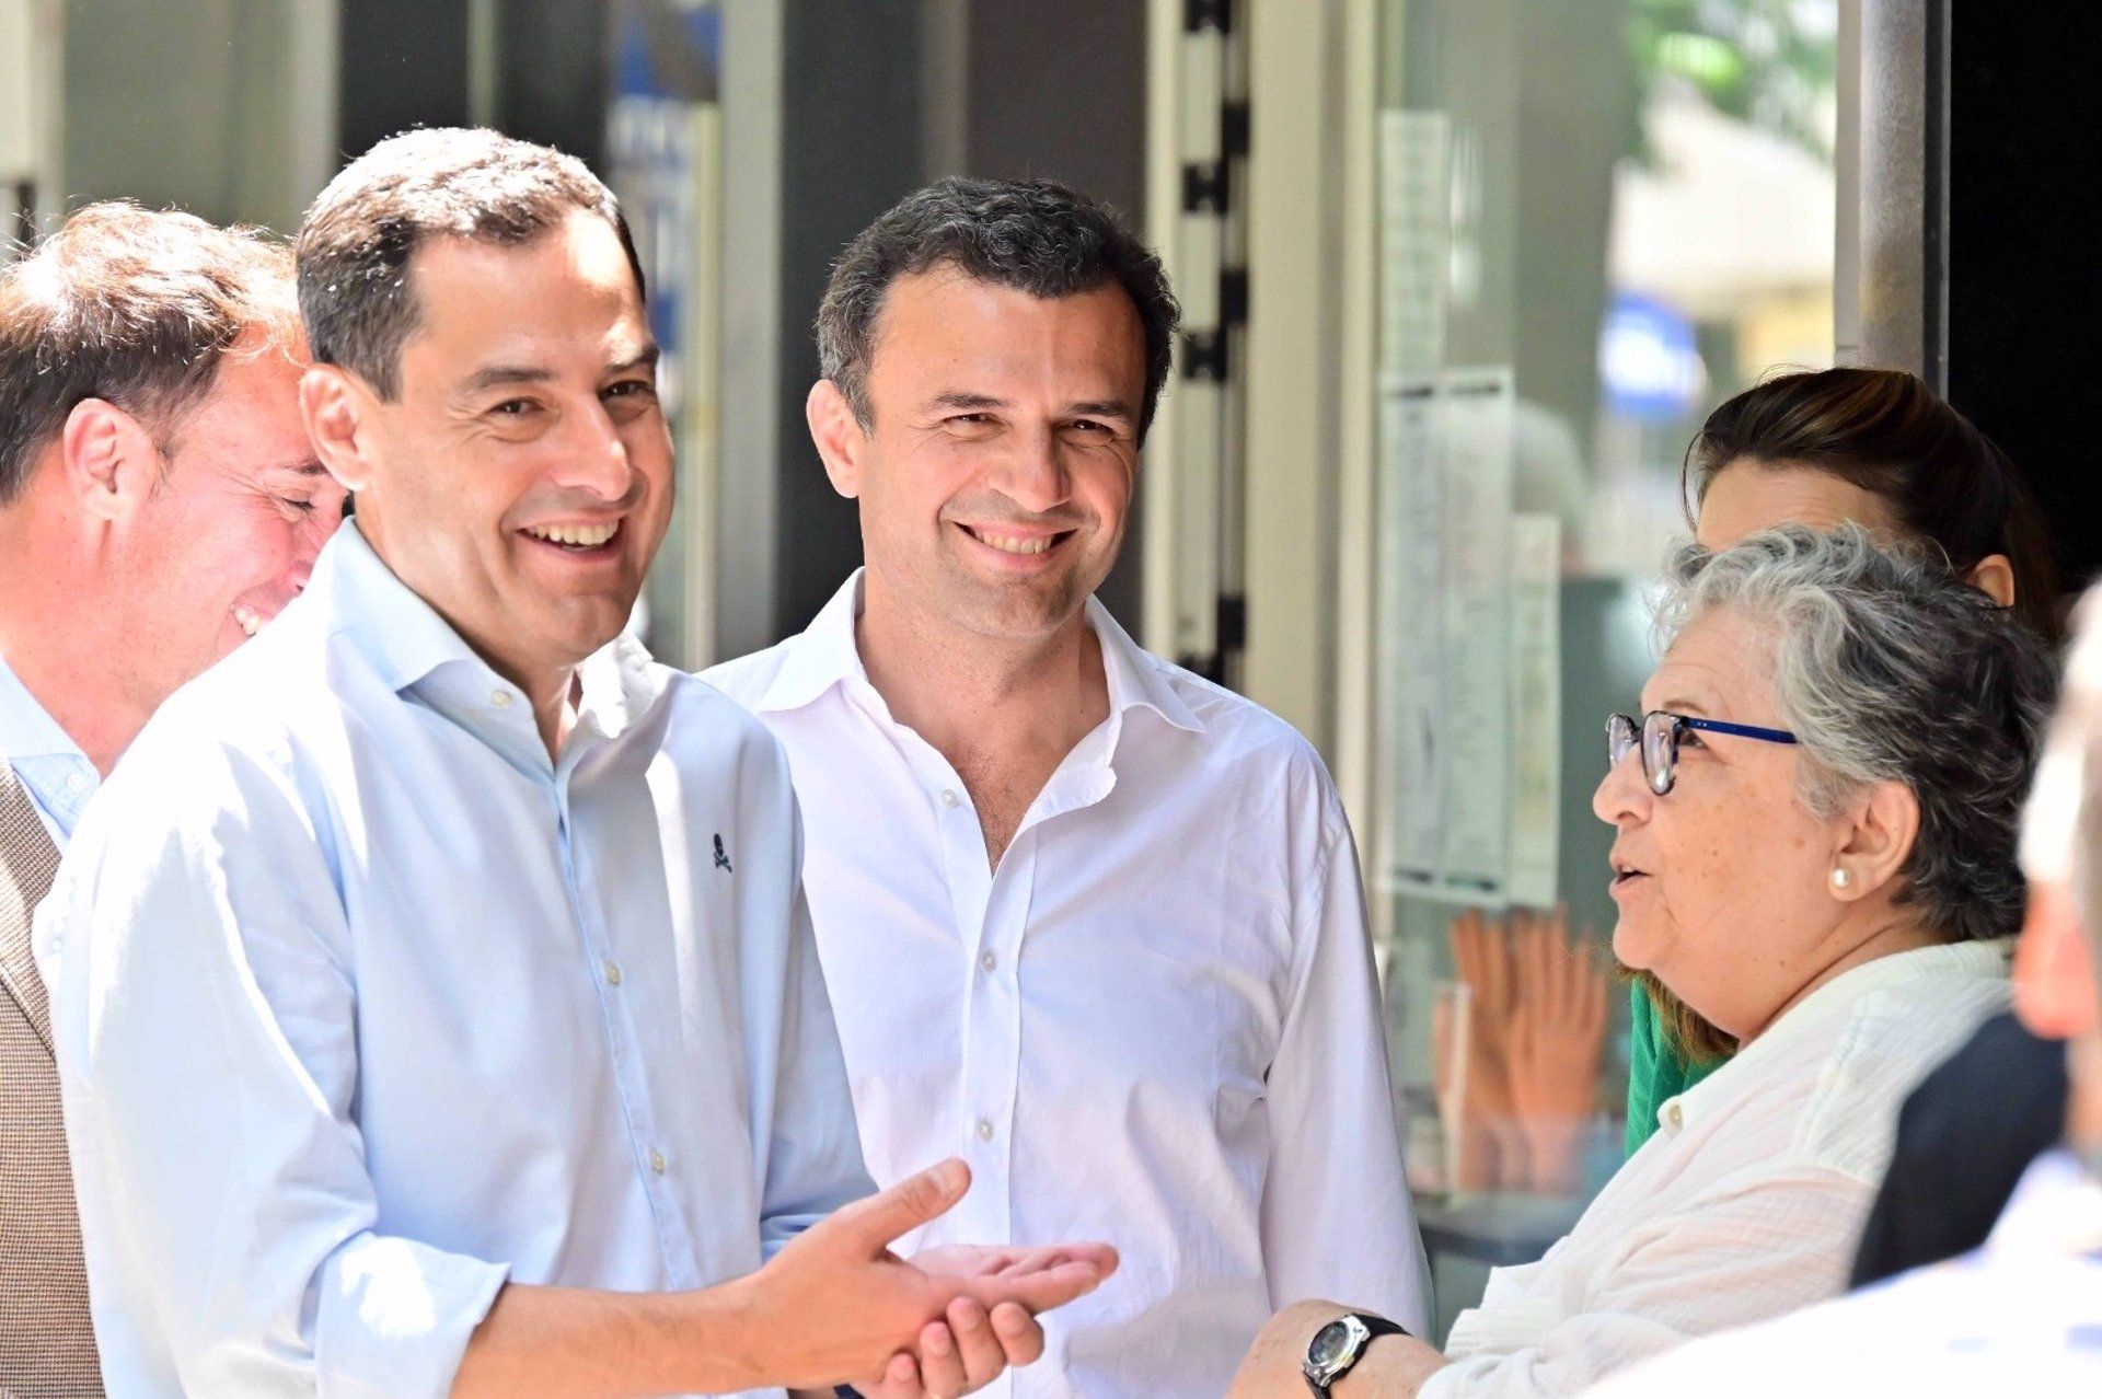
[{"label": "smiling face of the man in the white shirt", "polygon": [[1125,538],[1146,357],[1118,286],[1038,300],[954,267],[877,317],[870,426],[830,382],[811,431],[860,502],[868,607],[956,641],[1076,624]]}]

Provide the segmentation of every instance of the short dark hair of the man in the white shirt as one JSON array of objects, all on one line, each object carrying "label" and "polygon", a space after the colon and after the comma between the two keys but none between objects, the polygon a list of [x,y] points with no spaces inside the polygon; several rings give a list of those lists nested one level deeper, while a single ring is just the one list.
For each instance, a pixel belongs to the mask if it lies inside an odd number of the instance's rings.
[{"label": "short dark hair of the man in the white shirt", "polygon": [[900,200],[839,254],[818,307],[818,361],[862,426],[870,424],[868,359],[883,296],[898,277],[942,265],[1040,300],[1125,288],[1146,340],[1146,437],[1181,309],[1160,258],[1116,210],[1053,181],[940,181]]}]

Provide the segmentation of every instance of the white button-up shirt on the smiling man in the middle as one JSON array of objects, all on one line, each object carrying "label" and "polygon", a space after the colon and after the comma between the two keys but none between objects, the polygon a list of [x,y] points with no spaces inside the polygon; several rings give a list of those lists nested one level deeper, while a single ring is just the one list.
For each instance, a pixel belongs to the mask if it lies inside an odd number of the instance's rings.
[{"label": "white button-up shirt on the smiling man in the middle", "polygon": [[1110,716],[992,870],[969,790],[870,687],[858,609],[860,576],[704,678],[788,748],[870,1172],[971,1164],[925,1244],[1122,1254],[986,1393],[1217,1399],[1303,1296],[1421,1330],[1364,897],[1314,750],[1091,601]]}]

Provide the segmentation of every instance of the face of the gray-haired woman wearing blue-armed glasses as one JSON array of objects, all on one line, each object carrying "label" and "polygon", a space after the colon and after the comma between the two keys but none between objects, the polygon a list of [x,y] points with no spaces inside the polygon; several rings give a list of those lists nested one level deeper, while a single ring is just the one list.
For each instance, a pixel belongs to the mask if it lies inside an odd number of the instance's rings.
[{"label": "face of the gray-haired woman wearing blue-armed glasses", "polygon": [[[1698,618],[1665,653],[1642,706],[1785,729],[1772,702],[1772,639],[1734,611]],[[1801,807],[1797,763],[1787,744],[1688,731],[1667,796],[1650,792],[1631,752],[1591,798],[1619,832],[1614,956],[1738,1038],[1816,975],[1818,949],[1843,916],[1829,874],[1846,823]]]}]

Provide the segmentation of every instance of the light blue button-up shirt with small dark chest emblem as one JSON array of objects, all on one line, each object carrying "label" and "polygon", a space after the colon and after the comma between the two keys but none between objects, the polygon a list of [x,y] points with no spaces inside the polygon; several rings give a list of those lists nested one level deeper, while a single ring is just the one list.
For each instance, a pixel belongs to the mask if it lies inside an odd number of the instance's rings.
[{"label": "light blue button-up shirt with small dark chest emblem", "polygon": [[719,693],[616,641],[549,760],[338,531],[38,918],[109,1395],[446,1395],[507,1277],[700,1288],[866,1193],[797,844]]}]

